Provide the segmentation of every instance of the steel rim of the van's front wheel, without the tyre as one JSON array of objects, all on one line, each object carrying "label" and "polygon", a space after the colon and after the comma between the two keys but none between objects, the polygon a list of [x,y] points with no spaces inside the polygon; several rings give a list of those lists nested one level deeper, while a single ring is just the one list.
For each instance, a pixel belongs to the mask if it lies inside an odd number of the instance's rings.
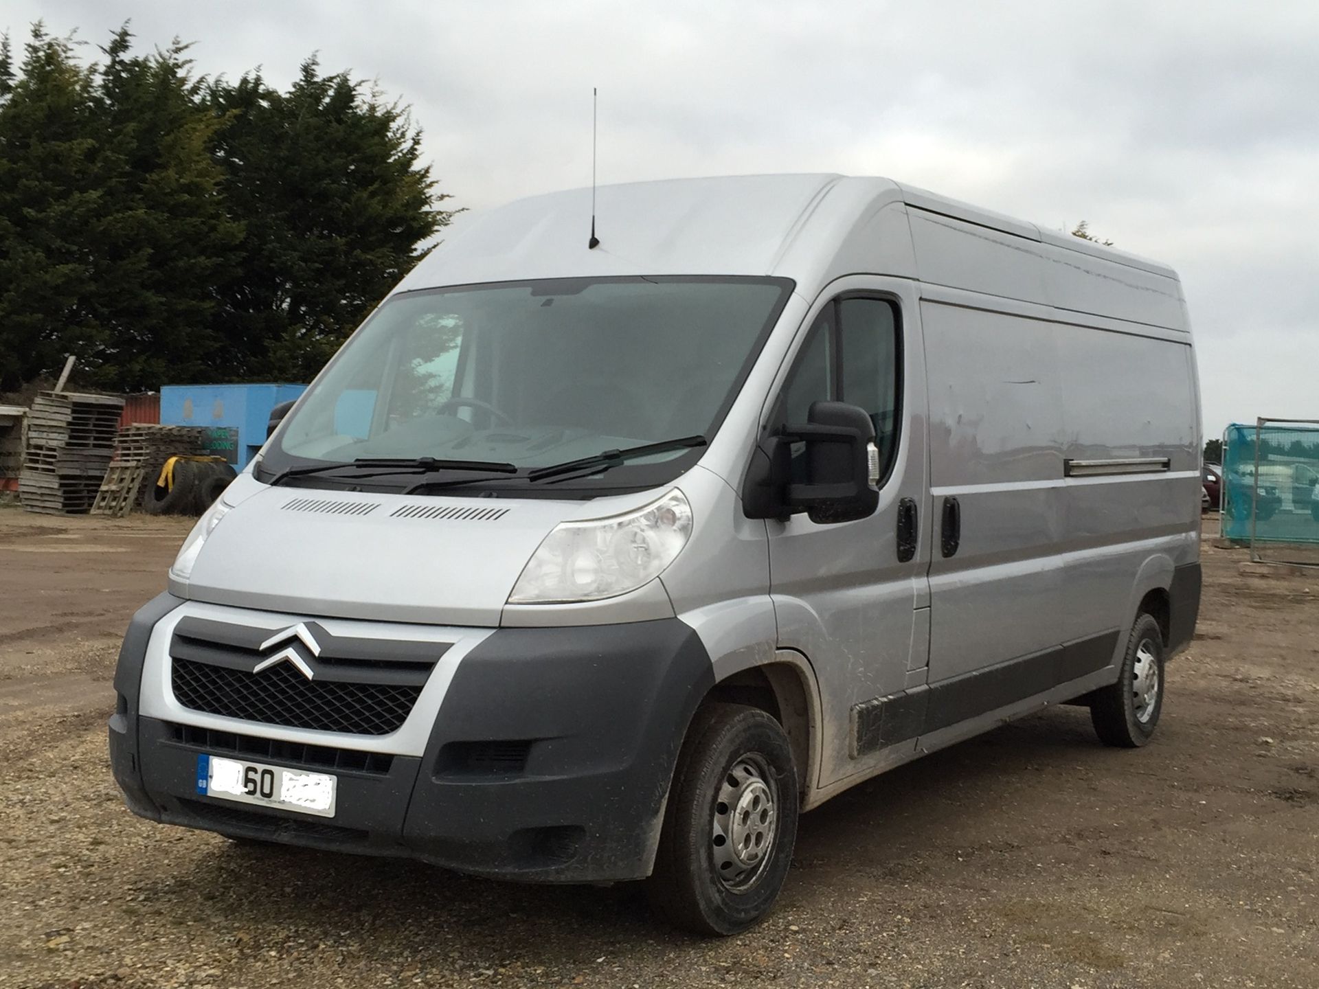
[{"label": "steel rim of the van's front wheel, without the tyre", "polygon": [[724,774],[711,824],[719,882],[731,890],[754,885],[778,835],[778,783],[761,756],[743,756]]}]

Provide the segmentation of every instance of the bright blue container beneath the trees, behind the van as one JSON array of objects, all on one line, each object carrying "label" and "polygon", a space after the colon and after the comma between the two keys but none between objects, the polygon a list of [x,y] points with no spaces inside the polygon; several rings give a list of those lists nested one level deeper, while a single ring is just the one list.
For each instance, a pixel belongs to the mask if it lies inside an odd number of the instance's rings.
[{"label": "bright blue container beneath the trees, behind the van", "polygon": [[247,467],[265,443],[270,409],[306,390],[306,385],[165,385],[161,388],[161,423],[204,426],[206,446],[237,471]]}]

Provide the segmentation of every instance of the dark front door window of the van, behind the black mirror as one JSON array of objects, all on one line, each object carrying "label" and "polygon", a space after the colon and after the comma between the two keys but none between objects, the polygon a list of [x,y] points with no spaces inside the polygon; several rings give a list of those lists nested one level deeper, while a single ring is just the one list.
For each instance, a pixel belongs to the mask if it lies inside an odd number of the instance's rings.
[{"label": "dark front door window of the van, behind the black mirror", "polygon": [[[853,297],[824,307],[797,355],[773,417],[773,427],[806,422],[811,402],[859,405],[874,423],[880,476],[897,455],[901,425],[901,378],[897,307],[892,302]],[[793,444],[793,473],[801,476],[801,444]]]}]

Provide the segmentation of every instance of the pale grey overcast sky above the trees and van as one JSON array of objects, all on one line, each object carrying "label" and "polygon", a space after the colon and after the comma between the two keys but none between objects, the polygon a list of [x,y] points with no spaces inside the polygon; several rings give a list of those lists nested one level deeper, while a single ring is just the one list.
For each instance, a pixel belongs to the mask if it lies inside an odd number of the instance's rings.
[{"label": "pale grey overcast sky above the trees and van", "polygon": [[1319,418],[1319,4],[758,0],[4,0],[103,44],[195,41],[199,73],[326,70],[413,105],[479,208],[601,182],[888,175],[1182,274],[1206,435]]}]

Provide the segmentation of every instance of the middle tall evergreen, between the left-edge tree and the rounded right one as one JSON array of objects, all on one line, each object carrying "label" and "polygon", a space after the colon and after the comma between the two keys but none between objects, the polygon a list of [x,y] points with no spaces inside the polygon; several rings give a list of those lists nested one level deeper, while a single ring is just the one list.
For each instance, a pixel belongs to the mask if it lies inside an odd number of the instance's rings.
[{"label": "middle tall evergreen, between the left-edge tree and the rounded right one", "polygon": [[231,277],[243,224],[218,195],[223,171],[211,142],[224,125],[200,104],[178,40],[129,55],[121,28],[102,49],[94,109],[112,173],[99,239],[102,272],[91,306],[100,335],[87,377],[119,389],[204,381],[223,373],[211,323],[216,282]]}]

